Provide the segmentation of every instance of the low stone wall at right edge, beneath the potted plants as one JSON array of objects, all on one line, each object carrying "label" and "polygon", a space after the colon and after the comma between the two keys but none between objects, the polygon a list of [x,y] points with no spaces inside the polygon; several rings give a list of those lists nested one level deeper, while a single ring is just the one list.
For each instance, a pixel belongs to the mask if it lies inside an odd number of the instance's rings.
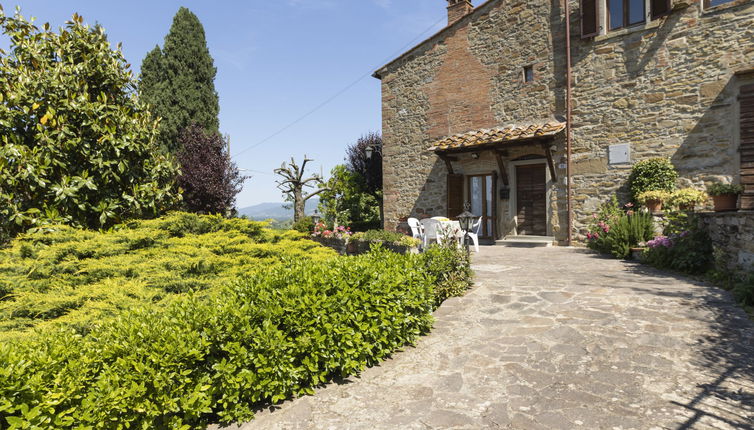
[{"label": "low stone wall at right edge, beneath the potted plants", "polygon": [[702,222],[729,270],[754,272],[754,212],[709,212]]}]

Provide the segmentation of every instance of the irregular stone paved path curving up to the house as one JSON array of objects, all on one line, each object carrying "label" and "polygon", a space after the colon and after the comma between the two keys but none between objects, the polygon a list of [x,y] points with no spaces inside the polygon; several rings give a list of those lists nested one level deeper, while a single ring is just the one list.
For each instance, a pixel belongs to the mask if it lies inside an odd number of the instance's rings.
[{"label": "irregular stone paved path curving up to the house", "polygon": [[484,248],[415,348],[242,429],[754,428],[727,293],[566,248]]}]

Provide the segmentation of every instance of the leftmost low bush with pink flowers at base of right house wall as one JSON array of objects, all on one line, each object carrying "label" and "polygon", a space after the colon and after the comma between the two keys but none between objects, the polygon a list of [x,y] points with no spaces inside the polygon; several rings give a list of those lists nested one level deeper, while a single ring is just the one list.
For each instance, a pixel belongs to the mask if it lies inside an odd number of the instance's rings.
[{"label": "leftmost low bush with pink flowers at base of right house wall", "polygon": [[587,246],[616,258],[627,258],[631,248],[654,237],[652,215],[628,210],[624,212],[613,196],[594,215],[587,233]]}]

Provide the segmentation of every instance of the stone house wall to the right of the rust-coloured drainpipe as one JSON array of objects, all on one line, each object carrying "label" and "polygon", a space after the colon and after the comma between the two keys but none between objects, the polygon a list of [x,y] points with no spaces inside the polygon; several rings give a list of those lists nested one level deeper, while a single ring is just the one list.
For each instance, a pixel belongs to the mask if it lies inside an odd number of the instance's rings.
[{"label": "stone house wall to the right of the rust-coloured drainpipe", "polygon": [[754,3],[694,4],[637,31],[579,39],[573,64],[577,229],[625,185],[630,166],[608,164],[612,144],[630,144],[632,161],[670,158],[679,186],[737,181],[736,97],[746,78],[734,73],[754,67]]}]

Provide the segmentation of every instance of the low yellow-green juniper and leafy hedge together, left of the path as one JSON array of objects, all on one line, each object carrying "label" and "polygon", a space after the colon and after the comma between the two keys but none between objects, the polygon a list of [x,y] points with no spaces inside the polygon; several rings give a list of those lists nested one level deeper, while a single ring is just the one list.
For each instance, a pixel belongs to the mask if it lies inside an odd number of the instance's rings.
[{"label": "low yellow-green juniper and leafy hedge together, left of the path", "polygon": [[193,428],[358,374],[462,294],[465,253],[358,257],[294,231],[173,213],[49,226],[0,254],[0,417],[11,428]]}]

